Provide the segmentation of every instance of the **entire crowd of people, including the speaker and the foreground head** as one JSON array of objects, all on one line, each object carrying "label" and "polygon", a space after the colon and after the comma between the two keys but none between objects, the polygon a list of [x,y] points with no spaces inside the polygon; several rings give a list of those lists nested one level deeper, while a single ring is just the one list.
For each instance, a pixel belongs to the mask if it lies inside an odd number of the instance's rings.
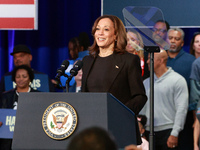
[{"label": "entire crowd of people, including the speaker and the foreground head", "polygon": [[[83,62],[82,69],[71,81],[69,92],[111,93],[131,109],[138,120],[137,143],[130,143],[125,150],[148,150],[150,53],[144,51],[142,36],[137,31],[126,30],[122,21],[113,15],[97,18],[92,35],[91,46],[86,33],[80,33],[68,43],[71,67],[65,73],[70,73],[77,60]],[[153,66],[156,150],[199,150],[200,125],[196,110],[200,100],[200,33],[195,33],[191,39],[190,53],[183,49],[184,36],[181,28],[170,28],[164,20],[155,22],[152,29],[152,40],[160,48],[160,52],[154,53]],[[20,92],[54,92],[56,88],[65,86],[66,77],[60,78],[62,85],[57,85],[57,81],[50,80],[48,75],[31,68],[32,55],[26,45],[16,45],[11,55],[15,68],[1,78],[0,108],[17,109]],[[42,81],[44,77],[45,81]],[[38,81],[40,86],[37,86]],[[93,131],[98,134],[93,135]],[[89,136],[103,137],[101,142],[108,145],[105,148],[101,143],[103,149],[117,149],[108,133],[98,128],[76,136],[68,149],[84,149],[88,146],[85,139]],[[0,149],[3,149],[3,143],[6,142],[0,139]],[[98,146],[98,140],[94,143]],[[5,145],[10,148],[11,141]]]}]

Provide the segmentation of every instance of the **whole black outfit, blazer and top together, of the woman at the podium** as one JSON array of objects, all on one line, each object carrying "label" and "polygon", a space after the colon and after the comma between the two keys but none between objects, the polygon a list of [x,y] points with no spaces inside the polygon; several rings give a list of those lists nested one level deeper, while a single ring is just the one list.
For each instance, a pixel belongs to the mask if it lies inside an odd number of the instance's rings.
[{"label": "whole black outfit, blazer and top together, of the woman at the podium", "polygon": [[[101,59],[106,59],[105,64]],[[135,114],[140,112],[147,101],[141,76],[140,58],[137,55],[126,52],[124,54],[113,53],[105,58],[85,56],[82,70],[82,92],[111,93]],[[103,79],[103,75],[106,79]],[[100,85],[97,82],[100,82]],[[97,89],[99,87],[101,89]]]}]

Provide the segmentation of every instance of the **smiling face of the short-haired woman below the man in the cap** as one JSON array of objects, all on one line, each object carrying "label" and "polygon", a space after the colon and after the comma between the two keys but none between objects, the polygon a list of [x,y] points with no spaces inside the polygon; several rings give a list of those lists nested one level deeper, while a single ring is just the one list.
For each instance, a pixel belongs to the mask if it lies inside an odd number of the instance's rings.
[{"label": "smiling face of the short-haired woman below the man in the cap", "polygon": [[29,87],[30,78],[29,78],[29,74],[27,70],[25,69],[17,70],[16,76],[15,76],[15,82],[18,88],[23,89],[23,88]]}]

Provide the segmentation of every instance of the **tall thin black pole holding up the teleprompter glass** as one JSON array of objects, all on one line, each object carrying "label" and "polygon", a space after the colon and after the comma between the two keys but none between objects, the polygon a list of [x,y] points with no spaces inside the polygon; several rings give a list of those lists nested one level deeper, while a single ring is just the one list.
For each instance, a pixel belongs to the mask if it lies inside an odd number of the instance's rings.
[{"label": "tall thin black pole holding up the teleprompter glass", "polygon": [[149,150],[154,149],[154,52],[160,52],[159,46],[144,46],[150,53],[150,134]]}]

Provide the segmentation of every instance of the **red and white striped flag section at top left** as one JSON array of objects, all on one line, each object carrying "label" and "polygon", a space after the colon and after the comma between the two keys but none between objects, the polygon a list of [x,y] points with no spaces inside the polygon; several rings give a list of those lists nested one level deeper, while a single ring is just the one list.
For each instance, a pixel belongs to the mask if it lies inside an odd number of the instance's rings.
[{"label": "red and white striped flag section at top left", "polygon": [[30,30],[38,27],[38,0],[0,0],[0,29]]}]

